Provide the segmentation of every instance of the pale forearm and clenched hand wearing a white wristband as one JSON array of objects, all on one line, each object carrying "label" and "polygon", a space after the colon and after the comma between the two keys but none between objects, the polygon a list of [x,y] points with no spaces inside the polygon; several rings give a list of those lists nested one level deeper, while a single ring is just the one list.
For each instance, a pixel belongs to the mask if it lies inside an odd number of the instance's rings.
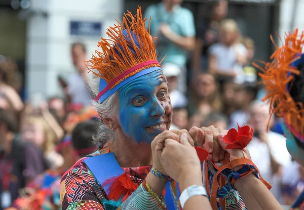
[{"label": "pale forearm and clenched hand wearing a white wristband", "polygon": [[181,203],[181,205],[184,204],[182,206],[184,210],[211,210],[209,199],[205,195],[193,195],[187,199],[185,197],[182,198],[183,193],[185,193],[184,190],[188,187],[193,185],[203,186],[201,163],[192,142],[194,142],[192,135],[187,136],[186,133],[181,134],[179,142],[173,139],[166,139],[161,154],[163,167],[166,173],[179,183],[180,199],[182,199],[180,202],[184,202]]}]

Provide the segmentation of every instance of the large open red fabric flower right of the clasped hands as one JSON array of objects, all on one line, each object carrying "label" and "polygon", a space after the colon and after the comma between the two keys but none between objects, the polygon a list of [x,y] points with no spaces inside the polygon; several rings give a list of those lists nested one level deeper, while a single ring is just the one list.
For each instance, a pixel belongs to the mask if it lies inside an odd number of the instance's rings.
[{"label": "large open red fabric flower right of the clasped hands", "polygon": [[224,136],[224,142],[228,144],[224,149],[244,149],[252,139],[253,129],[248,125],[242,127],[238,124],[238,130],[230,129],[226,136]]}]

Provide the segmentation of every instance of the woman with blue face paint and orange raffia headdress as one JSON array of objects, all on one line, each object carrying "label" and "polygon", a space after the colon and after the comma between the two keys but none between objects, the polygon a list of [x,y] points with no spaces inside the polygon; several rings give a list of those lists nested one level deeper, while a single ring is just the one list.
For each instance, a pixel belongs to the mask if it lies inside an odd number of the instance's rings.
[{"label": "woman with blue face paint and orange raffia headdress", "polygon": [[[221,128],[168,131],[172,106],[167,80],[144,21],[140,9],[135,16],[125,14],[122,24],[107,29],[108,39],[101,38],[101,50],[87,62],[93,103],[102,119],[95,137],[100,150],[63,175],[63,210],[180,209],[180,187],[164,170],[159,154],[166,139],[179,141],[182,133],[192,146],[197,142],[207,149],[208,160],[223,158],[213,142],[227,132]],[[186,162],[180,168],[182,174],[190,169]],[[234,196],[237,209],[245,209]]]}]

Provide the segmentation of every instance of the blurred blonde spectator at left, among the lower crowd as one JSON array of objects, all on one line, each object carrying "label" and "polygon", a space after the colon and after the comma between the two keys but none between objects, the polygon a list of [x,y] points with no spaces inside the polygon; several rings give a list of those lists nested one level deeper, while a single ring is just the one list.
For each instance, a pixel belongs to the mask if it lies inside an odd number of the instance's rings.
[{"label": "blurred blonde spectator at left, among the lower crowd", "polygon": [[62,156],[55,152],[55,135],[42,116],[27,116],[22,120],[21,140],[39,148],[52,169],[63,164]]}]

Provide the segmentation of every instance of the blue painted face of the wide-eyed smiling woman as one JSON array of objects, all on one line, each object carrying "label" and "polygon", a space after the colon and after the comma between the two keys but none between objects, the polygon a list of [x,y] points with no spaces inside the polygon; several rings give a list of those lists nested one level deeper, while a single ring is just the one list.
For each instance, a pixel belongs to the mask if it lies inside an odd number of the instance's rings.
[{"label": "blue painted face of the wide-eyed smiling woman", "polygon": [[125,135],[150,144],[170,128],[172,106],[162,71],[154,71],[127,83],[119,90],[119,119]]}]

